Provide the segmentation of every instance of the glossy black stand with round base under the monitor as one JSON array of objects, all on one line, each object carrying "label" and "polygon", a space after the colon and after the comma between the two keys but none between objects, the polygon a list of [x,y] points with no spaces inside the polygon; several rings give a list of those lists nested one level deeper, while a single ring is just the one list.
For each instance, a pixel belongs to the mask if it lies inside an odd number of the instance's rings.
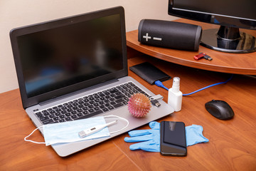
[{"label": "glossy black stand with round base under the monitor", "polygon": [[239,31],[239,28],[220,26],[203,31],[201,45],[215,51],[251,53],[256,51],[256,38]]}]

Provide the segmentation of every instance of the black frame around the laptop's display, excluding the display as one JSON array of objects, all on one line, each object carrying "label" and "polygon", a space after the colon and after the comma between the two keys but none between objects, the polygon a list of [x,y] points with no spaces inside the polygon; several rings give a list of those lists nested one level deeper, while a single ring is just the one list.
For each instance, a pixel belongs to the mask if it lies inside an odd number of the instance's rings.
[{"label": "black frame around the laptop's display, excluding the display", "polygon": [[[104,16],[111,16],[114,14],[119,14],[120,16],[120,29],[122,34],[122,55],[123,55],[123,68],[120,71],[115,71],[113,73],[109,73],[104,76],[100,76],[97,78],[92,78],[89,81],[83,81],[80,83],[76,83],[72,86],[67,86],[65,88],[59,88],[57,90],[52,90],[47,93],[43,93],[41,95],[36,95],[31,98],[28,98],[26,93],[25,81],[23,78],[22,66],[21,66],[21,56],[18,51],[18,42],[17,37],[26,35],[28,33],[35,33],[38,31],[44,31],[50,28],[57,28],[60,26],[68,26],[69,24],[80,23],[82,21],[89,21],[92,19],[97,19]],[[90,86],[97,85],[99,83],[103,83],[105,81],[110,81],[111,79],[122,78],[128,75],[127,69],[127,45],[126,45],[126,31],[125,31],[125,21],[124,21],[124,8],[122,6],[117,6],[111,9],[103,9],[100,11],[93,11],[86,14],[80,14],[77,16],[70,16],[63,19],[56,19],[53,21],[47,21],[40,24],[33,24],[31,26],[23,26],[21,28],[14,28],[10,31],[11,38],[11,47],[14,55],[14,62],[16,66],[16,74],[18,77],[18,86],[20,88],[21,100],[23,104],[23,108],[26,109],[32,105],[36,105],[38,103],[42,103],[43,101],[50,100],[61,95],[66,95],[68,93],[73,93],[77,90],[81,90],[83,88],[88,88]]]}]

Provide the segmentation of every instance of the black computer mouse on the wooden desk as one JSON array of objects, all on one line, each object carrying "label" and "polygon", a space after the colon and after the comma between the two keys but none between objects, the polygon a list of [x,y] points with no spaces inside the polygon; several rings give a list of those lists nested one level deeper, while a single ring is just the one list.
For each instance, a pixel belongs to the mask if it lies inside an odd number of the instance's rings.
[{"label": "black computer mouse on the wooden desk", "polygon": [[223,100],[211,100],[205,106],[211,115],[220,120],[230,120],[235,115],[230,105]]}]

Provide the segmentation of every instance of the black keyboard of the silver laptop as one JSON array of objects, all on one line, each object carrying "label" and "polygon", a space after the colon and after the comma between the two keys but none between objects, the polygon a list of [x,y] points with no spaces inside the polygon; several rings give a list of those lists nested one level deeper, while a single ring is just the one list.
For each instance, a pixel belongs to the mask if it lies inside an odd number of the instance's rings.
[{"label": "black keyboard of the silver laptop", "polygon": [[52,108],[38,110],[35,114],[36,117],[41,120],[43,125],[90,118],[94,115],[127,105],[129,98],[134,93],[143,93],[144,95],[147,95],[134,83],[128,82],[53,106]]}]

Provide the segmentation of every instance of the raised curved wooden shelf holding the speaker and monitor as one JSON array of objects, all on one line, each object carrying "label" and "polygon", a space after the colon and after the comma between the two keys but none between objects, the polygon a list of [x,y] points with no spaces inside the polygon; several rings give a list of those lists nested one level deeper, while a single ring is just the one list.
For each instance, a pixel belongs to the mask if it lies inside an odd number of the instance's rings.
[{"label": "raised curved wooden shelf holding the speaker and monitor", "polygon": [[[196,24],[202,26],[203,29],[218,28],[213,24],[204,24],[198,21],[189,21],[186,19],[178,19],[178,22]],[[256,36],[256,31],[240,29],[243,32]],[[203,46],[199,47],[199,51],[181,51],[171,48],[161,48],[156,46],[146,46],[138,41],[138,31],[130,31],[127,33],[127,46],[135,50],[145,53],[164,61],[177,63],[183,66],[200,68],[208,71],[218,71],[222,73],[238,73],[247,75],[256,75],[256,52],[254,53],[224,53],[213,51]],[[196,61],[193,56],[204,52],[213,58],[212,61],[201,59]]]}]

